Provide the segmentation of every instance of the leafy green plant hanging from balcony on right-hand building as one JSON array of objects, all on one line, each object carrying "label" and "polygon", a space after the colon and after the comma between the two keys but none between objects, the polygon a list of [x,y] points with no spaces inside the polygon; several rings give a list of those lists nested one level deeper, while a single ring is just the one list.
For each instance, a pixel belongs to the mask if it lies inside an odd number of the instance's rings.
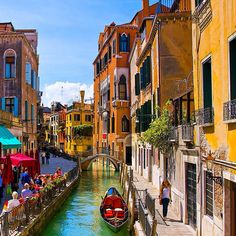
[{"label": "leafy green plant hanging from balcony on right-hand building", "polygon": [[169,141],[170,132],[172,128],[172,122],[170,118],[170,112],[168,110],[167,103],[160,112],[160,116],[157,117],[144,132],[141,141],[152,144],[157,147],[163,154],[169,152],[171,143]]}]

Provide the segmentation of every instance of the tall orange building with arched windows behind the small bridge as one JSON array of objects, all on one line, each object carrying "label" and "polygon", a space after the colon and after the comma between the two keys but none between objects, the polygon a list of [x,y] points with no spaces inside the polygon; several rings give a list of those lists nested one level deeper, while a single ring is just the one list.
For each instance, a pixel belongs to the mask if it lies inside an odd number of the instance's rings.
[{"label": "tall orange building with arched windows behind the small bridge", "polygon": [[94,60],[94,153],[103,151],[131,164],[130,64],[136,34],[157,4],[143,8],[129,23],[105,26]]}]

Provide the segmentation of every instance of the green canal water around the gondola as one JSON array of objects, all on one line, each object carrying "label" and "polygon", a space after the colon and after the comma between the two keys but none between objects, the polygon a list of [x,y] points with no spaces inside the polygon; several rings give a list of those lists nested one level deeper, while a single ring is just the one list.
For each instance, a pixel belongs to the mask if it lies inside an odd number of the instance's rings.
[{"label": "green canal water around the gondola", "polygon": [[83,172],[73,191],[41,236],[128,236],[127,228],[114,233],[100,217],[101,196],[114,186],[120,193],[119,173],[95,162],[92,170]]}]

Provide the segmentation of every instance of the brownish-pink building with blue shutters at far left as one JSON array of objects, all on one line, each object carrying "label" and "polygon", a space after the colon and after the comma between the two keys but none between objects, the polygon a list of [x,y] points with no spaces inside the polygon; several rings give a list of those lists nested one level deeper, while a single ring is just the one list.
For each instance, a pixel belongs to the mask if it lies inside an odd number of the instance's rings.
[{"label": "brownish-pink building with blue shutters at far left", "polygon": [[22,151],[37,148],[37,105],[40,100],[35,29],[17,30],[0,23],[0,107],[22,122]]}]

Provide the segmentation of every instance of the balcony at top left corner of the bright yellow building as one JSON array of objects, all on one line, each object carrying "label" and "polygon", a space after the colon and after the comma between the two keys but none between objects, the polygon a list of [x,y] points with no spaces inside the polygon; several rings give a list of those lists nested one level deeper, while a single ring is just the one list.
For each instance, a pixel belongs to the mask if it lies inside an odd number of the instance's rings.
[{"label": "balcony at top left corner of the bright yellow building", "polygon": [[202,32],[212,19],[211,1],[198,0],[192,18],[193,22],[199,25],[199,28]]}]

